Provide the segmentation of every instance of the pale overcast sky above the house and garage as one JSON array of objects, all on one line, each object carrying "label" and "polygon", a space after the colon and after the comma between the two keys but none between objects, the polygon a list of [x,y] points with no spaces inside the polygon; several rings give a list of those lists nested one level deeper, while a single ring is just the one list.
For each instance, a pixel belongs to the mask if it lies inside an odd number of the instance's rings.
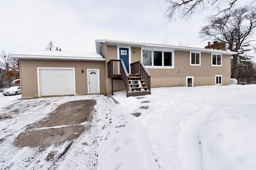
[{"label": "pale overcast sky above the house and garage", "polygon": [[96,52],[95,39],[202,47],[205,14],[189,22],[168,21],[165,0],[4,0],[0,4],[0,50],[45,49]]}]

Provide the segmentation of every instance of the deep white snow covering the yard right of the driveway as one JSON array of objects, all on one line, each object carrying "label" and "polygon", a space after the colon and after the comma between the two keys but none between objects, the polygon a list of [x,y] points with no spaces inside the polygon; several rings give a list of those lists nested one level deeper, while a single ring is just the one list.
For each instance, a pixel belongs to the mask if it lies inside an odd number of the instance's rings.
[{"label": "deep white snow covering the yard right of the driveway", "polygon": [[255,85],[155,88],[142,99],[114,97],[127,115],[142,115],[130,116],[122,132],[99,143],[99,169],[256,167]]}]

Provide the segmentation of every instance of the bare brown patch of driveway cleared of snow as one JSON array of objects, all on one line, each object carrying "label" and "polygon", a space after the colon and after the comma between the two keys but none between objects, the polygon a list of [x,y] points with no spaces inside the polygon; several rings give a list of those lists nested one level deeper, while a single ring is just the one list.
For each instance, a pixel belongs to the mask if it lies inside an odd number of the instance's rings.
[{"label": "bare brown patch of driveway cleared of snow", "polygon": [[18,135],[16,146],[47,146],[78,138],[85,128],[81,123],[89,120],[95,100],[69,101],[40,122],[29,125]]}]

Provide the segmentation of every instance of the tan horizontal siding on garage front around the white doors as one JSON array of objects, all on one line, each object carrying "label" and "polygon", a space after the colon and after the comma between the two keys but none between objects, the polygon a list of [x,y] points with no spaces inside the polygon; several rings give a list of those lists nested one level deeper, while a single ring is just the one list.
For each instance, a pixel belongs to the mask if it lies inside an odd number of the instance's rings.
[{"label": "tan horizontal siding on garage front around the white doors", "polygon": [[[22,98],[38,97],[37,67],[68,67],[75,68],[76,94],[88,94],[87,69],[100,70],[100,93],[105,90],[105,67],[102,61],[67,61],[67,60],[39,60],[20,59]],[[81,70],[84,70],[82,73]]]}]

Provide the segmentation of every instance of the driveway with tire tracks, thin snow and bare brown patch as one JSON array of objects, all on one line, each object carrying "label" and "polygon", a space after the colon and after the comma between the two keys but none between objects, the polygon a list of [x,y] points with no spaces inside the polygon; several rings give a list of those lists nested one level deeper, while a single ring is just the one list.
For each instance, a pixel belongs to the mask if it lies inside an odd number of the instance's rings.
[{"label": "driveway with tire tracks, thin snow and bare brown patch", "polygon": [[130,113],[104,95],[0,105],[0,169],[95,170],[100,146],[126,127]]}]

